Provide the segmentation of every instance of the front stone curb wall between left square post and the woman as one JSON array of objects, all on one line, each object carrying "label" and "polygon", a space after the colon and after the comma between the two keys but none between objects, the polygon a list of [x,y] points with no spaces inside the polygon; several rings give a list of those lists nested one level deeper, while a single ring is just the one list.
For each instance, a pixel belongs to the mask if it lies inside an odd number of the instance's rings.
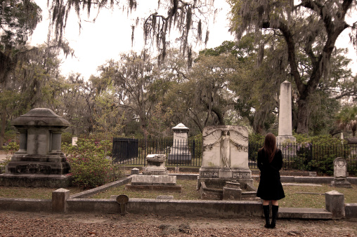
[{"label": "front stone curb wall between left square post and the woman", "polygon": [[[120,205],[115,199],[67,200],[67,212],[120,213]],[[203,200],[162,200],[130,198],[126,212],[133,214],[190,215],[214,217],[241,217],[263,215],[259,201],[203,201]]]}]

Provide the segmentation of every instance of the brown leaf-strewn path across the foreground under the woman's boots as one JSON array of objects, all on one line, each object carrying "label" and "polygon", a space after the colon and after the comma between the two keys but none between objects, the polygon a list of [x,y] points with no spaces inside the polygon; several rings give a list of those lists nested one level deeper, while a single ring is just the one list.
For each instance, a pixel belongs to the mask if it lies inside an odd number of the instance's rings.
[{"label": "brown leaf-strewn path across the foreground under the woman's boots", "polygon": [[159,217],[156,215],[48,214],[0,211],[0,236],[357,236],[357,219]]}]

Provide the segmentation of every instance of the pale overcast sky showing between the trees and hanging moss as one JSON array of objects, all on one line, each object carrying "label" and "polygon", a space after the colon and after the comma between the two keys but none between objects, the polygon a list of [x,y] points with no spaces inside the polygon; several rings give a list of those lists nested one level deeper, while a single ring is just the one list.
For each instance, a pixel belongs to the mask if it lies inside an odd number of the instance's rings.
[{"label": "pale overcast sky showing between the trees and hanging moss", "polygon": [[[47,0],[35,1],[42,9],[43,20],[37,25],[37,28],[32,35],[31,44],[44,43],[48,32],[48,10],[46,8]],[[233,40],[234,37],[228,32],[227,14],[229,5],[225,0],[214,1],[215,6],[222,8],[217,15],[216,23],[212,24],[213,19],[209,22],[209,42],[207,48],[214,48],[221,45],[225,40]],[[134,48],[131,47],[131,25],[134,25],[136,17],[143,18],[148,16],[150,11],[155,10],[157,0],[138,1],[138,7],[131,17],[126,16],[126,12],[117,10],[111,12],[103,9],[100,11],[96,22],[87,22],[85,20],[93,20],[96,16],[96,11],[91,11],[91,16],[82,19],[82,29],[79,34],[79,20],[73,12],[67,20],[64,37],[69,41],[70,47],[74,49],[76,57],[67,57],[63,59],[61,67],[63,75],[70,72],[79,72],[84,76],[84,79],[89,79],[91,74],[96,74],[98,66],[103,65],[106,60],[119,59],[119,54],[129,52],[130,50],[140,51],[143,48],[143,31],[141,27],[137,27],[135,31]],[[356,17],[357,18],[357,17]],[[357,20],[357,19],[353,19]],[[348,43],[348,32],[344,32],[338,40],[340,47],[349,47],[349,57],[353,59],[350,67],[354,74],[357,74],[357,56],[356,50]],[[196,51],[205,48],[203,45],[197,46]]]}]

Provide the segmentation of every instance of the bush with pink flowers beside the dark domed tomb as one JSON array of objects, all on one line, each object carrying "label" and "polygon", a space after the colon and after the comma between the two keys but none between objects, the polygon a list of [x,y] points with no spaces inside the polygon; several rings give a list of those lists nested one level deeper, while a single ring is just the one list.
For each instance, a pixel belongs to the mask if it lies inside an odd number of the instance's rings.
[{"label": "bush with pink flowers beside the dark domed tomb", "polygon": [[[77,146],[64,144],[63,151],[71,165],[73,184],[84,189],[98,187],[122,176],[119,166],[107,158],[109,141],[78,139]],[[109,146],[110,147],[110,146]]]}]

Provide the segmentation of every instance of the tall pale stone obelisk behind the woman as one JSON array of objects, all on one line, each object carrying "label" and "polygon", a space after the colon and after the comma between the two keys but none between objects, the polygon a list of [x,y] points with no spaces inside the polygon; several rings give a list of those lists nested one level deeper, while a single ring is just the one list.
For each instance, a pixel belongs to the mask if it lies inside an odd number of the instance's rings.
[{"label": "tall pale stone obelisk behind the woman", "polygon": [[283,143],[285,140],[296,142],[292,136],[292,86],[289,81],[280,84],[279,106],[279,130],[276,142]]}]

